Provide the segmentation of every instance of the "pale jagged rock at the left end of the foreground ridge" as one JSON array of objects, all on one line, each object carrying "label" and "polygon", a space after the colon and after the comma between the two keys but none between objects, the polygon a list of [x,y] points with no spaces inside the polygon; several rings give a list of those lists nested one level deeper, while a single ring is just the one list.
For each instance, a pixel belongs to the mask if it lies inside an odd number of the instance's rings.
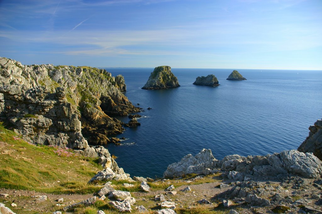
[{"label": "pale jagged rock at the left end of the foreground ridge", "polygon": [[196,156],[191,154],[183,157],[179,162],[170,164],[164,172],[164,177],[181,177],[190,173],[200,174],[206,168],[213,169],[217,167],[216,158],[213,157],[211,150],[203,149]]}]

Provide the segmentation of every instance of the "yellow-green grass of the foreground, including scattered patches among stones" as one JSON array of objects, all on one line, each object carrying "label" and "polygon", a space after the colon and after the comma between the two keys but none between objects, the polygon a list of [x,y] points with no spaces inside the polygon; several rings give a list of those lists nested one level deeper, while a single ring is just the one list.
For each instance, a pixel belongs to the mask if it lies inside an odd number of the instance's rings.
[{"label": "yellow-green grass of the foreground, including scattered patches among stones", "polygon": [[[0,123],[0,189],[34,190],[36,192],[53,194],[93,194],[102,186],[87,184],[87,182],[101,169],[102,167],[95,162],[94,158],[77,156],[71,150],[61,150],[48,146],[35,146],[20,140],[20,136],[6,129],[4,124]],[[187,175],[185,179],[195,176]],[[219,177],[219,175],[217,176]],[[212,183],[216,181],[218,180],[214,180],[212,175],[198,179],[190,184]],[[129,191],[132,196],[136,197],[136,192],[140,191],[140,182],[133,182],[132,184],[135,186],[129,188],[124,187],[122,185],[123,183],[129,182],[112,181],[115,189]],[[183,179],[179,179],[168,180],[167,182],[149,182],[148,184],[152,191],[162,191],[171,184],[179,187],[187,183]],[[137,201],[133,208],[139,205],[150,207],[149,205],[155,204],[153,200],[154,196],[147,194],[146,197],[150,199],[148,201]],[[21,196],[14,199],[24,201],[25,204],[34,204],[34,198]],[[10,207],[13,200],[1,199],[0,202],[5,202],[5,200],[9,200],[5,204]],[[108,199],[105,201],[97,201],[95,205],[78,208],[74,213],[96,214],[97,210],[104,210],[107,214],[118,213],[110,207],[108,202]],[[41,213],[52,213],[52,211],[62,209],[55,207],[53,205],[54,203],[57,202],[43,202],[41,205],[44,210]],[[66,201],[66,203],[68,204],[69,201]],[[33,207],[33,205],[31,206]],[[25,211],[23,207],[19,207],[19,203],[17,208],[10,208],[16,213],[21,213],[22,211],[24,213],[39,213],[39,211],[36,211],[37,207],[33,207],[33,211]],[[186,207],[177,208],[176,211],[182,214],[221,213],[217,210],[209,209],[209,207],[198,205],[190,209]],[[133,213],[137,213],[137,211],[134,209]],[[155,211],[151,210],[149,213],[155,213]]]}]

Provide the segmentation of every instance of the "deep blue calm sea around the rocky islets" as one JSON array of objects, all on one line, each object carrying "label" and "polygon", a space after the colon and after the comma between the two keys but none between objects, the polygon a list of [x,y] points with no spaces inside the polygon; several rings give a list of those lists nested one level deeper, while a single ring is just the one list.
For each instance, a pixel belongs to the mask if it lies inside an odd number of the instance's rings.
[{"label": "deep blue calm sea around the rocky islets", "polygon": [[[123,145],[107,146],[131,176],[161,177],[169,164],[203,148],[217,159],[297,149],[322,118],[322,71],[238,69],[247,80],[228,81],[232,69],[172,68],[181,87],[142,90],[153,68],[106,69],[124,76],[125,95],[145,110],[141,126],[117,135],[127,139]],[[219,87],[192,84],[208,74]]]}]

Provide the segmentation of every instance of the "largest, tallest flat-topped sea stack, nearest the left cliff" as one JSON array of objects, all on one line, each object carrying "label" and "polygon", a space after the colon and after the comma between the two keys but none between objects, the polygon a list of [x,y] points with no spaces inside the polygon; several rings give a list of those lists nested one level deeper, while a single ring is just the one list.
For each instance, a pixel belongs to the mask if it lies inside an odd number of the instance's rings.
[{"label": "largest, tallest flat-topped sea stack, nearest the left cliff", "polygon": [[179,87],[178,79],[171,72],[170,66],[158,66],[151,73],[142,89],[159,90]]}]

